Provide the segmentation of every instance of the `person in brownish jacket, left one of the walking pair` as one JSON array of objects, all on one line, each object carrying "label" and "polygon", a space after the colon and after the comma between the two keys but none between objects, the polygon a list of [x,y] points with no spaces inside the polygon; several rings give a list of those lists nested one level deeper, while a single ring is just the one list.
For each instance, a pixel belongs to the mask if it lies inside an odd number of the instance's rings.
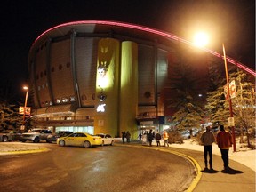
[{"label": "person in brownish jacket, left one of the walking pair", "polygon": [[211,132],[211,127],[206,127],[206,132],[204,132],[200,138],[201,142],[204,145],[204,164],[205,164],[205,170],[208,169],[208,161],[207,156],[209,155],[209,165],[210,170],[213,170],[212,168],[212,143],[215,142],[215,137],[213,133]]}]

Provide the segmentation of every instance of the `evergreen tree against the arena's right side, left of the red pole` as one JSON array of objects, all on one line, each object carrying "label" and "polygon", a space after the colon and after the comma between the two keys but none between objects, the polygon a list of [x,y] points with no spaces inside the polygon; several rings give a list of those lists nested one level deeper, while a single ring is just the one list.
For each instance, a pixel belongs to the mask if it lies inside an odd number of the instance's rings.
[{"label": "evergreen tree against the arena's right side, left of the red pole", "polygon": [[[199,93],[204,92],[201,86],[204,81],[201,76],[196,76],[195,68],[189,62],[193,55],[184,52],[186,57],[181,57],[180,63],[172,65],[169,78],[169,97],[167,108],[175,109],[172,121],[179,130],[188,130],[192,136],[192,128],[199,128],[204,118],[204,99]],[[195,64],[195,63],[194,63]]]}]

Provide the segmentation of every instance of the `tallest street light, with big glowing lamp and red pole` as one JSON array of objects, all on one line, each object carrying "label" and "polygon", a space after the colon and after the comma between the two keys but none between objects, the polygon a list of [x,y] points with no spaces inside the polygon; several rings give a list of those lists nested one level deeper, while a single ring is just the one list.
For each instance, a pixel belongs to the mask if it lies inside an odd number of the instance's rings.
[{"label": "tallest street light, with big glowing lamp and red pole", "polygon": [[[208,39],[209,38],[205,33],[203,33],[203,32],[197,33],[194,38],[194,44],[197,47],[203,47],[206,44],[208,44]],[[226,51],[225,51],[224,44],[222,44],[222,49],[223,49],[223,60],[224,60],[226,80],[227,80],[227,98],[228,98],[228,104],[229,104],[230,122],[234,122],[232,100],[231,100],[230,92],[229,92],[228,65],[227,65],[227,58],[226,58]],[[228,118],[228,123],[229,123],[229,118]],[[231,130],[232,130],[233,150],[234,150],[234,152],[236,152],[235,127],[234,127],[234,124],[231,124],[230,126],[231,126]]]}]

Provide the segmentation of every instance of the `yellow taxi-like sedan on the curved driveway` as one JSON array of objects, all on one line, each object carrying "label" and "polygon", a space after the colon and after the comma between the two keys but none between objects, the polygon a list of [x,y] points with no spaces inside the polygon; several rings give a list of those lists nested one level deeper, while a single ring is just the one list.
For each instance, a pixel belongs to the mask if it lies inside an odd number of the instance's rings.
[{"label": "yellow taxi-like sedan on the curved driveway", "polygon": [[92,146],[102,145],[102,138],[100,136],[91,135],[87,132],[74,132],[66,137],[58,138],[57,144],[60,147],[80,146],[84,148],[90,148]]}]

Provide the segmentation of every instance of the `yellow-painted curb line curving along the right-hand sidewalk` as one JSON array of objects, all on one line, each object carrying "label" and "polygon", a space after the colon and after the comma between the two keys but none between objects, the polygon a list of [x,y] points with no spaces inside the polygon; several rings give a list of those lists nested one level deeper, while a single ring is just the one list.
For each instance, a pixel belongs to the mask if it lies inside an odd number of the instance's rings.
[{"label": "yellow-painted curb line curving along the right-hand sidewalk", "polygon": [[[132,148],[144,147],[143,145],[135,146],[135,145],[125,145],[125,144],[122,144],[122,145],[120,144],[120,146],[132,147]],[[168,150],[168,149],[164,149],[164,148],[154,148],[154,147],[153,148],[148,148],[148,149],[154,149],[154,150],[159,150],[159,151],[163,151],[163,152],[168,152],[168,153],[172,153],[172,154],[175,154],[177,156],[181,156],[181,157],[184,157],[184,158],[188,159],[188,161],[191,164],[193,164],[196,168],[196,178],[194,178],[194,180],[192,181],[192,183],[188,187],[187,191],[192,192],[196,188],[196,185],[198,184],[199,180],[201,180],[202,172],[200,172],[201,167],[200,167],[200,165],[198,164],[198,162],[196,161],[195,158],[193,158],[192,156],[188,156],[186,154],[182,154],[182,153],[177,152],[177,151],[170,150],[170,149]]]}]

